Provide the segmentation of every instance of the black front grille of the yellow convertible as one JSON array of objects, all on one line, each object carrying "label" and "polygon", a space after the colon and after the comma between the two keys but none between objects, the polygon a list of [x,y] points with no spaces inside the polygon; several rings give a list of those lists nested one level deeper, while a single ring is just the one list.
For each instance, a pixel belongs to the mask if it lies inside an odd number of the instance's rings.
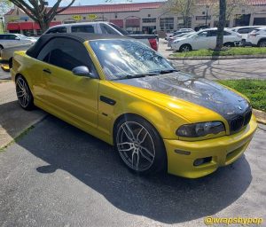
[{"label": "black front grille of the yellow convertible", "polygon": [[246,111],[246,113],[239,114],[238,116],[233,118],[230,121],[230,134],[237,133],[244,126],[246,126],[251,119],[251,115],[252,115],[252,110],[249,109],[248,111]]}]

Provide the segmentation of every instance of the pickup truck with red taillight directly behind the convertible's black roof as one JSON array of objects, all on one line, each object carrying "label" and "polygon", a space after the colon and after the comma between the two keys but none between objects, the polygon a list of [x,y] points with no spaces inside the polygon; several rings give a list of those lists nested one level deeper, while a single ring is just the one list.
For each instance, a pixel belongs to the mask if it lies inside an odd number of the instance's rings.
[{"label": "pickup truck with red taillight directly behind the convertible's black roof", "polygon": [[121,27],[109,22],[83,22],[57,25],[50,27],[44,34],[76,32],[127,36],[137,39],[138,41],[152,47],[153,50],[158,51],[159,35],[129,35],[129,33]]}]

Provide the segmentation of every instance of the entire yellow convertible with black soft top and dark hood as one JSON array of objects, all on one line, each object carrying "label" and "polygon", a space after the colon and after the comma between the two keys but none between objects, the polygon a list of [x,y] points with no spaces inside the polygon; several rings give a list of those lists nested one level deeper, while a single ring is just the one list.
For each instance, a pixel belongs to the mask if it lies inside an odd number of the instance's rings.
[{"label": "entire yellow convertible with black soft top and dark hood", "polygon": [[43,35],[15,52],[11,72],[22,108],[114,145],[139,174],[206,176],[237,160],[257,127],[241,94],[121,36]]}]

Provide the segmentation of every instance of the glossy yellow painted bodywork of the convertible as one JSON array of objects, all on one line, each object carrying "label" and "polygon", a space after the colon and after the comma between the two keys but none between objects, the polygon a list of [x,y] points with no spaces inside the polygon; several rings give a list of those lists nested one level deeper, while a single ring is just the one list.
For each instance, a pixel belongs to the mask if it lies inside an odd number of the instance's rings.
[{"label": "glossy yellow painted bodywork of the convertible", "polygon": [[[136,114],[145,118],[163,139],[168,156],[168,172],[176,176],[205,176],[219,166],[237,160],[245,151],[256,129],[254,116],[246,129],[229,135],[227,121],[220,114],[203,106],[152,90],[107,81],[90,42],[83,44],[90,53],[100,79],[74,75],[65,69],[32,59],[25,51],[14,55],[12,79],[15,80],[17,74],[22,74],[33,93],[35,106],[110,145],[113,145],[113,127],[123,114]],[[49,68],[51,74],[43,72],[45,68]],[[67,80],[64,81],[63,77]],[[116,104],[111,106],[100,101],[101,96],[115,100]],[[208,135],[188,139],[176,136],[176,129],[181,125],[200,121],[223,121],[226,131],[219,135],[221,137]],[[175,150],[191,154],[184,155]],[[213,157],[209,164],[193,166],[194,160],[209,156]]]}]

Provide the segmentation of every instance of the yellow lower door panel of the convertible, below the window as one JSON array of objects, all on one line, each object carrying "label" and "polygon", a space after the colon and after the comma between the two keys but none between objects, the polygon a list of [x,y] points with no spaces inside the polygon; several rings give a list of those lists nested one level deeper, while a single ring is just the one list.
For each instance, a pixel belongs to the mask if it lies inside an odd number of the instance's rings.
[{"label": "yellow lower door panel of the convertible, below the window", "polygon": [[49,65],[43,67],[43,87],[43,101],[47,106],[74,118],[74,121],[97,127],[98,79],[77,76]]}]

